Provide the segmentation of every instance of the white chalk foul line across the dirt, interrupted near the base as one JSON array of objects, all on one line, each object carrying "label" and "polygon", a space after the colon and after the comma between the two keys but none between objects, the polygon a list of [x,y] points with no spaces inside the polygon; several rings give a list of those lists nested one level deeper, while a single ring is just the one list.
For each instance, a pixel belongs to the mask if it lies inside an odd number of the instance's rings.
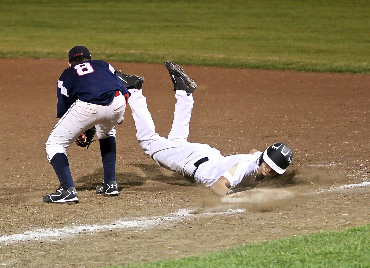
[{"label": "white chalk foul line across the dirt, interrupted near the base", "polygon": [[[341,185],[339,187],[332,187],[329,189],[321,189],[315,192],[307,194],[320,194],[324,192],[332,192],[337,190],[343,190],[346,188],[355,188],[355,187],[364,187],[370,186],[370,181],[361,182],[360,184],[348,184]],[[141,217],[133,218],[131,220],[118,220],[112,224],[90,224],[90,225],[75,225],[72,227],[63,227],[63,228],[36,228],[34,231],[26,231],[20,234],[13,235],[3,235],[0,237],[0,247],[4,245],[9,245],[14,242],[23,242],[23,241],[38,241],[43,239],[55,239],[55,238],[66,238],[73,237],[77,235],[82,235],[89,232],[102,230],[117,230],[117,228],[152,228],[160,227],[167,222],[171,221],[181,221],[188,218],[200,218],[207,217],[211,215],[221,215],[221,214],[236,214],[242,213],[245,210],[228,210],[226,212],[208,212],[202,214],[189,214],[191,210],[178,210],[177,212],[167,214],[164,216],[157,217]]]}]

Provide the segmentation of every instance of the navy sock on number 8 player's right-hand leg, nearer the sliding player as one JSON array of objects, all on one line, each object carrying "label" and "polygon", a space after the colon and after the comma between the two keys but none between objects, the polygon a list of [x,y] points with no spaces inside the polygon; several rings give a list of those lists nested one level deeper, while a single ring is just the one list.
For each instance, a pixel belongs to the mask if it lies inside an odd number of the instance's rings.
[{"label": "navy sock on number 8 player's right-hand leg, nearer the sliding player", "polygon": [[115,137],[99,140],[101,160],[103,162],[104,182],[114,181],[115,178],[115,158],[116,144]]}]

